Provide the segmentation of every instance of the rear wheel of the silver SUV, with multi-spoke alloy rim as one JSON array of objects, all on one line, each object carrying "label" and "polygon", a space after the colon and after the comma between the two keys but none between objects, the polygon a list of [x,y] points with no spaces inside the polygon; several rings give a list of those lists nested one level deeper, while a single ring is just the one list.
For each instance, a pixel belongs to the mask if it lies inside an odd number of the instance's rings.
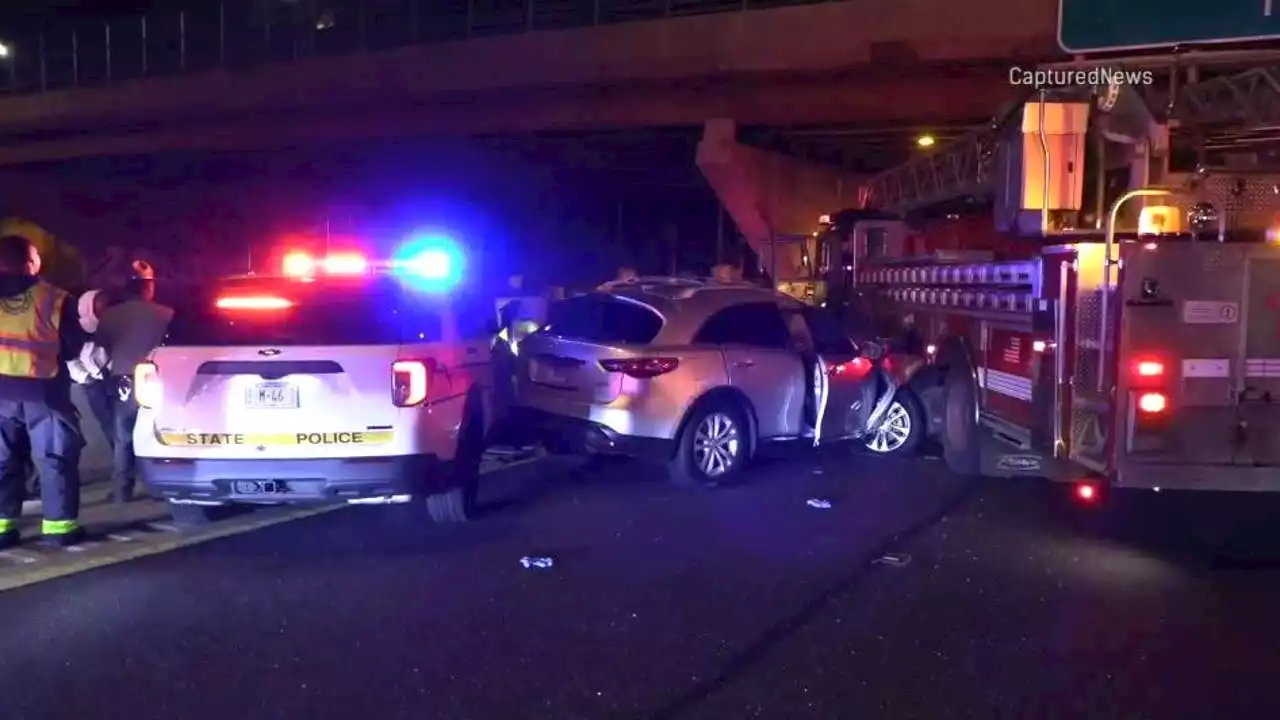
[{"label": "rear wheel of the silver SUV, with multi-spoke alloy rim", "polygon": [[721,486],[735,480],[749,459],[750,428],[742,409],[717,400],[696,407],[685,423],[667,465],[677,486]]}]

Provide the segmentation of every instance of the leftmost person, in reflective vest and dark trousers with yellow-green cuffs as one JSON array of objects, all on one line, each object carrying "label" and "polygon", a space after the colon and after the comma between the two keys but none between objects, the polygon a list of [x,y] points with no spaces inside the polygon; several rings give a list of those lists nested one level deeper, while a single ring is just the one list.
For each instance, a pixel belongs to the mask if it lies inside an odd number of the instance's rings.
[{"label": "leftmost person, in reflective vest and dark trousers with yellow-green cuffs", "polygon": [[40,473],[44,542],[78,543],[79,456],[84,447],[65,363],[84,332],[69,293],[37,279],[38,254],[0,237],[0,547],[18,542],[26,466]]}]

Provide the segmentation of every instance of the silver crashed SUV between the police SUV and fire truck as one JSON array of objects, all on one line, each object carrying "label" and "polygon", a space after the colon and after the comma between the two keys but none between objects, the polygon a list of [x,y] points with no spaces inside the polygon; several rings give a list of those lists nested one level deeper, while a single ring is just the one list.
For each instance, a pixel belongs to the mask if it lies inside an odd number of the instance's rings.
[{"label": "silver crashed SUV between the police SUV and fire truck", "polygon": [[[520,346],[516,401],[553,450],[655,459],[676,482],[722,483],[762,442],[856,437],[877,397],[869,377],[823,310],[748,283],[639,278],[553,305]],[[919,404],[893,410],[915,425],[899,445],[918,443]]]}]

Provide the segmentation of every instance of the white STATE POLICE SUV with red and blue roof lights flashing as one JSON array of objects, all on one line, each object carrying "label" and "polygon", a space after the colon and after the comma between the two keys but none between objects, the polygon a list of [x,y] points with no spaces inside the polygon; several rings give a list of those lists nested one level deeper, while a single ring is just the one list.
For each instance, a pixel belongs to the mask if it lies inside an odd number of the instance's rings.
[{"label": "white STATE POLICE SUV with red and blue roof lights flashing", "polygon": [[291,254],[179,309],[133,378],[134,450],[179,524],[219,506],[426,498],[466,520],[492,421],[492,297],[461,256]]}]

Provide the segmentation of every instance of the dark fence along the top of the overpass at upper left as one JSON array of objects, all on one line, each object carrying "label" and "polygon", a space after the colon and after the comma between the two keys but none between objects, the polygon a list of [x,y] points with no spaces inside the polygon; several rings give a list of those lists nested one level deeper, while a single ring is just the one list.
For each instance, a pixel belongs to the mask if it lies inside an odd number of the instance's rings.
[{"label": "dark fence along the top of the overpass at upper left", "polygon": [[224,0],[15,32],[0,38],[0,92],[827,1],[838,0]]}]

